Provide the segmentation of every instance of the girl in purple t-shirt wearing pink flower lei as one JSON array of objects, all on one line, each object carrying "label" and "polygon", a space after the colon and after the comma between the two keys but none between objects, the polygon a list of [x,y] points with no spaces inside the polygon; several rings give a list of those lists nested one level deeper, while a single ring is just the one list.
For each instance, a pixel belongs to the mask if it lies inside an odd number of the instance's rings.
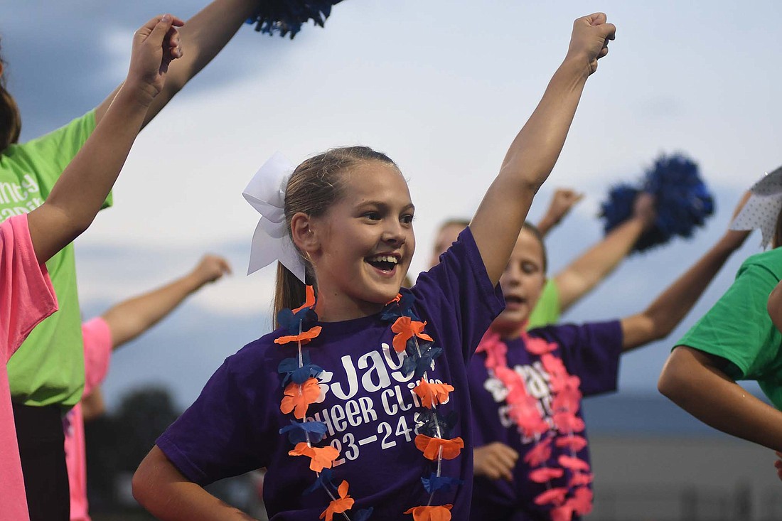
[{"label": "girl in purple t-shirt wearing pink flower lei", "polygon": [[527,332],[546,254],[540,234],[525,225],[500,277],[507,307],[468,368],[475,437],[471,519],[570,521],[590,512],[581,398],[615,390],[619,356],[668,335],[746,236],[726,232],[639,314]]}]

